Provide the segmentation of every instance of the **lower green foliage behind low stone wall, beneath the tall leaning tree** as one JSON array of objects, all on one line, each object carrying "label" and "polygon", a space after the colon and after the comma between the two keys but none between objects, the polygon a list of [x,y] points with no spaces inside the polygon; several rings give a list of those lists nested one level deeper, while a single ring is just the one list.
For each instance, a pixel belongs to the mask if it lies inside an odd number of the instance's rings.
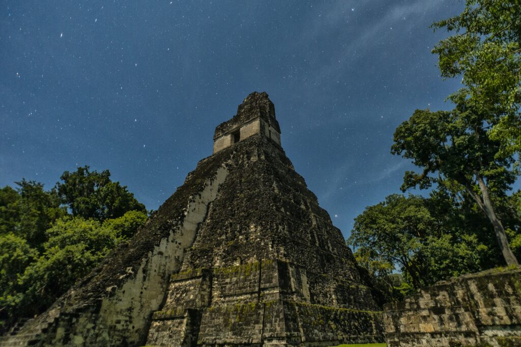
[{"label": "lower green foliage behind low stone wall, beneath the tall leaning tree", "polygon": [[[387,300],[504,264],[492,226],[465,195],[457,183],[446,181],[429,197],[390,195],[355,219],[348,244]],[[507,201],[498,213],[516,241],[514,253],[521,256],[521,214]]]}]

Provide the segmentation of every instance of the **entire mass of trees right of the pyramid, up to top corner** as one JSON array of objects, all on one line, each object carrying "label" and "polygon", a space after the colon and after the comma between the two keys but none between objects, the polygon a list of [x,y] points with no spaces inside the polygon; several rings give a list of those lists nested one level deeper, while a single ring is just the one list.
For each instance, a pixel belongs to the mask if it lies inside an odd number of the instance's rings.
[{"label": "entire mass of trees right of the pyramid, up to top corner", "polygon": [[[389,300],[451,276],[521,257],[521,10],[517,1],[466,0],[435,22],[452,35],[433,49],[443,78],[461,78],[452,111],[417,110],[391,152],[411,159],[402,190],[356,218],[348,244]],[[396,271],[401,271],[401,274]]]}]

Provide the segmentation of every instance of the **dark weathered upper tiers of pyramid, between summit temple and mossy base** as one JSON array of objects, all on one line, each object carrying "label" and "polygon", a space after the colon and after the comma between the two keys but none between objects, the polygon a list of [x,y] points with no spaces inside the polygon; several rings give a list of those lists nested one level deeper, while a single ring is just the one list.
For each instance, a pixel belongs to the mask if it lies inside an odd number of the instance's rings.
[{"label": "dark weathered upper tiers of pyramid, between summit temple and mossy base", "polygon": [[[181,271],[284,259],[306,269],[313,304],[379,310],[340,230],[291,162],[261,140],[244,140],[234,154],[230,179],[212,203]],[[226,212],[214,216],[212,211]]]}]

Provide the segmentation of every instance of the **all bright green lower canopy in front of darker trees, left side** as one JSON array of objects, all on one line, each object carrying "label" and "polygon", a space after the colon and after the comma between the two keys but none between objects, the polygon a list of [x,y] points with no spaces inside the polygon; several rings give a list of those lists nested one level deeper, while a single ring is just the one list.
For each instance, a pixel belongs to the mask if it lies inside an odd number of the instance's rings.
[{"label": "all bright green lower canopy in front of darker trees, left side", "polygon": [[21,238],[12,234],[0,237],[0,250],[6,252],[0,256],[0,273],[2,278],[8,274],[5,281],[0,280],[0,307],[10,317],[43,312],[110,250],[128,240],[146,219],[146,214],[138,211],[103,223],[82,217],[61,218],[46,231],[48,241],[40,256]]}]

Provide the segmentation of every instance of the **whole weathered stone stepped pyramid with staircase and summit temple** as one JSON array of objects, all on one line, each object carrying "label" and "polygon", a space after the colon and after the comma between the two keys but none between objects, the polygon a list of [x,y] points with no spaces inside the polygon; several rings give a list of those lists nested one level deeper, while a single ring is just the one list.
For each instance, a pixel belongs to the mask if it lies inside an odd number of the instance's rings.
[{"label": "whole weathered stone stepped pyramid with staircase and summit temple", "polygon": [[368,281],[254,92],[132,240],[0,346],[382,341]]}]

